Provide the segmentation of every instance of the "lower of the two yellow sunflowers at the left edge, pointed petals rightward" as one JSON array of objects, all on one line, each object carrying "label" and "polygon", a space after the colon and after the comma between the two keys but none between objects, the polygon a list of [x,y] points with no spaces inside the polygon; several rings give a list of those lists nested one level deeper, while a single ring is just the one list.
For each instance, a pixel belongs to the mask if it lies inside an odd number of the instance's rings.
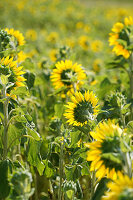
[{"label": "lower of the two yellow sunflowers at the left edge, pointed petals rightward", "polygon": [[22,66],[17,66],[17,61],[13,61],[13,57],[9,58],[9,56],[7,56],[0,60],[0,75],[8,75],[9,83],[14,84],[11,88],[9,88],[9,91],[7,91],[8,94],[11,89],[25,86],[24,81],[26,79],[22,76],[25,72],[22,71],[22,68]]}]

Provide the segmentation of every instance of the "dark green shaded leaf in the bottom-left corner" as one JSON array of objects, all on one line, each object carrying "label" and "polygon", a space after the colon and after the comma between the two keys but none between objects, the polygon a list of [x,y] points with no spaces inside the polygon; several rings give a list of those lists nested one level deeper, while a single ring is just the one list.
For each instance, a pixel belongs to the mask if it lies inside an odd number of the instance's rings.
[{"label": "dark green shaded leaf in the bottom-left corner", "polygon": [[8,181],[9,160],[0,162],[0,199],[4,199],[9,195],[10,185]]}]

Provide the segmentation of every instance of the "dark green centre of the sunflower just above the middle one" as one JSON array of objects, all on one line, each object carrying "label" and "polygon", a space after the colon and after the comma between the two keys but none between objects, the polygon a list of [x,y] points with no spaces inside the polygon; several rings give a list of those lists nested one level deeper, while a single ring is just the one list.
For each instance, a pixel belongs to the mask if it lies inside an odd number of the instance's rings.
[{"label": "dark green centre of the sunflower just above the middle one", "polygon": [[72,76],[74,76],[76,73],[70,69],[67,70],[63,70],[61,73],[61,81],[67,85],[70,86],[71,85],[71,78]]}]

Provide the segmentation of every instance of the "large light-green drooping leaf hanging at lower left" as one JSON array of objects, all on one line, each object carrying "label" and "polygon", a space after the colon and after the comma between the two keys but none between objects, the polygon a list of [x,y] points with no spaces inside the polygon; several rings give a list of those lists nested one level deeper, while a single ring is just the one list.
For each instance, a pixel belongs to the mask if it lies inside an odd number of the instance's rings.
[{"label": "large light-green drooping leaf hanging at lower left", "polygon": [[44,166],[41,156],[40,156],[40,147],[41,147],[40,141],[30,140],[28,161],[32,166],[35,166],[37,168],[37,170],[41,176],[43,174],[45,166]]}]

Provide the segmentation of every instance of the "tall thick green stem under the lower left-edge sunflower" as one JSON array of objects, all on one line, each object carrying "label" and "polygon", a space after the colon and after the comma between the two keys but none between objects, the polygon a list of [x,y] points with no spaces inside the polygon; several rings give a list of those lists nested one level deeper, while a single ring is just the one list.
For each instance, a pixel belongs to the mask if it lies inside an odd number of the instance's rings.
[{"label": "tall thick green stem under the lower left-edge sunflower", "polygon": [[7,143],[8,143],[8,98],[6,96],[5,85],[3,85],[3,98],[6,98],[3,104],[3,110],[4,110],[3,160],[5,160],[7,158]]}]

